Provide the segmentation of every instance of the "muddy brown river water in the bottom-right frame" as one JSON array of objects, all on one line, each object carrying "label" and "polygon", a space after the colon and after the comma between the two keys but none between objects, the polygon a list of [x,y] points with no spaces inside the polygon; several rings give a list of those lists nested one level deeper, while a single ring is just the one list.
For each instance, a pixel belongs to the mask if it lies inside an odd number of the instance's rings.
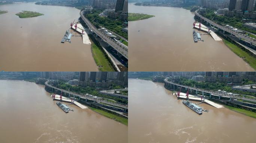
[{"label": "muddy brown river water in the bottom-right frame", "polygon": [[254,143],[256,119],[199,104],[202,115],[182,104],[163,83],[128,79],[129,143]]}]

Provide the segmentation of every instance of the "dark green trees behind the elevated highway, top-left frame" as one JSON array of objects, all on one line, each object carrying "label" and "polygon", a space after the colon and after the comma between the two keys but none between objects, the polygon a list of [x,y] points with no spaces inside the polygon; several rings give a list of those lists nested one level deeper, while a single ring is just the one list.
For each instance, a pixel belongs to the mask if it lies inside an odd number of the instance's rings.
[{"label": "dark green trees behind the elevated highway, top-left frame", "polygon": [[93,9],[92,13],[85,14],[85,17],[97,28],[99,28],[99,26],[103,26],[128,39],[128,33],[122,31],[124,22],[119,19],[101,17],[99,15],[101,12],[103,12],[103,10]]}]

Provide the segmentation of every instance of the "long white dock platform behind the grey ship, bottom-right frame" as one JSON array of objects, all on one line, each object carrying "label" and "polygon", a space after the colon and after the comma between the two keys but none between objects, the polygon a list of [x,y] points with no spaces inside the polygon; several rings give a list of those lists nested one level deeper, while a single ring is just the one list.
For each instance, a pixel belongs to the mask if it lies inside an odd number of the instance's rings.
[{"label": "long white dock platform behind the grey ship, bottom-right frame", "polygon": [[[177,93],[173,93],[173,95],[177,96]],[[177,97],[178,97],[178,96],[177,96]],[[180,92],[180,97],[179,97],[179,98],[186,100],[186,99],[187,99],[186,93]],[[189,95],[189,100],[201,102],[201,98],[196,97],[196,96],[193,96],[193,95]],[[205,103],[207,103],[207,104],[213,106],[213,107],[216,107],[216,108],[224,108],[224,106],[219,105],[219,104],[217,104],[217,103],[214,103],[214,102],[212,102],[212,101],[210,101],[210,100],[203,99],[203,101],[204,101]]]}]

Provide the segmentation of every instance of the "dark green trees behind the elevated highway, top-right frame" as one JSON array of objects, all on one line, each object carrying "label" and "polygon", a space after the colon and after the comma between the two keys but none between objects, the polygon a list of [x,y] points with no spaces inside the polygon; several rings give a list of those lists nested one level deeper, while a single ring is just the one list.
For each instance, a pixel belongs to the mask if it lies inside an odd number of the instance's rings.
[{"label": "dark green trees behind the elevated highway, top-right frame", "polygon": [[256,34],[255,30],[252,30],[250,28],[247,28],[246,26],[243,26],[242,18],[237,17],[229,17],[225,15],[216,15],[214,9],[206,9],[204,13],[201,13],[202,16],[205,18],[211,19],[215,21],[218,24],[224,24],[224,25],[231,25],[235,28],[242,29],[244,31],[249,31],[254,34]]}]

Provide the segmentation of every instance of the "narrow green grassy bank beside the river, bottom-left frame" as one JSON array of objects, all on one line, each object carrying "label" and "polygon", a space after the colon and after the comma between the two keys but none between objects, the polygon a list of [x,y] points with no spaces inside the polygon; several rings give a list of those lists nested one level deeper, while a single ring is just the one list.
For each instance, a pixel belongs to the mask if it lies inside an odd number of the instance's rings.
[{"label": "narrow green grassy bank beside the river, bottom-left frame", "polygon": [[111,114],[109,112],[106,112],[106,111],[103,111],[103,110],[100,110],[100,109],[96,109],[96,108],[93,108],[93,107],[89,107],[90,109],[92,109],[92,111],[95,111],[107,118],[110,118],[110,119],[113,119],[115,121],[118,121],[122,124],[125,124],[125,125],[128,125],[128,119],[127,118],[122,118],[122,117],[119,117],[117,115],[114,115],[114,114]]}]

